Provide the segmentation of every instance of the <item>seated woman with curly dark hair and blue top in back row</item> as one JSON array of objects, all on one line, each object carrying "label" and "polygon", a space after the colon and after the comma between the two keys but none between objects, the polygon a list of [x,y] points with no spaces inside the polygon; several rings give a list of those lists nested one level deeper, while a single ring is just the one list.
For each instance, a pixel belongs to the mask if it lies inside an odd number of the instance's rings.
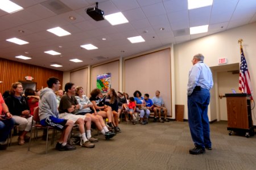
[{"label": "seated woman with curly dark hair and blue top in back row", "polygon": [[[150,110],[148,110],[146,108],[146,103],[144,101],[144,98],[141,96],[141,92],[140,91],[135,91],[133,96],[134,96],[134,100],[135,100],[135,104],[136,104],[136,110],[139,114],[139,118],[141,121],[141,125],[146,125],[147,121],[146,119],[149,117],[150,115]],[[145,115],[146,112],[146,115]]]}]

